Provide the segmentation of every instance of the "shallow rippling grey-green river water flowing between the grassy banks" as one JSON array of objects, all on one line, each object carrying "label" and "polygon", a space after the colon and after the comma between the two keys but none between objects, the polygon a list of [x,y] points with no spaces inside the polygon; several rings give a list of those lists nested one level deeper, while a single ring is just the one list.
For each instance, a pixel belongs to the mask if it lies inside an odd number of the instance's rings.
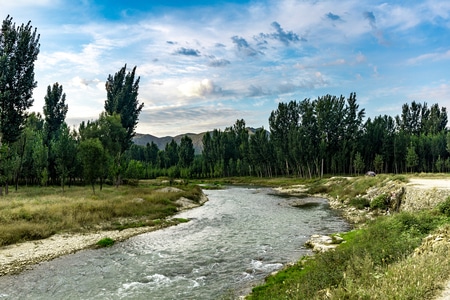
[{"label": "shallow rippling grey-green river water flowing between the grassy banks", "polygon": [[324,199],[303,208],[267,188],[205,191],[188,223],[0,277],[0,299],[224,299],[309,254],[312,234],[349,229]]}]

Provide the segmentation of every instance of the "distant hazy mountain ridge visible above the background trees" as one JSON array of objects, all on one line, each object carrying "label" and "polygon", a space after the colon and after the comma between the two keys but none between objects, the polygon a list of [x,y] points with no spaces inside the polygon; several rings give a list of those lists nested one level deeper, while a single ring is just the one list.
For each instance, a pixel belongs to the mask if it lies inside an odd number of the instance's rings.
[{"label": "distant hazy mountain ridge visible above the background trees", "polygon": [[[256,129],[247,127],[249,134],[254,134]],[[211,131],[212,132],[212,131]],[[136,133],[135,137],[133,138],[133,141],[136,145],[145,146],[147,143],[151,144],[152,142],[155,143],[159,150],[164,150],[166,148],[166,145],[172,141],[172,139],[177,142],[177,144],[180,144],[181,139],[187,135],[191,138],[192,144],[194,145],[195,154],[201,154],[203,150],[203,136],[206,134],[206,132],[202,133],[185,133],[185,134],[179,134],[177,136],[165,136],[165,137],[156,137],[151,134],[142,134],[142,133]]]}]

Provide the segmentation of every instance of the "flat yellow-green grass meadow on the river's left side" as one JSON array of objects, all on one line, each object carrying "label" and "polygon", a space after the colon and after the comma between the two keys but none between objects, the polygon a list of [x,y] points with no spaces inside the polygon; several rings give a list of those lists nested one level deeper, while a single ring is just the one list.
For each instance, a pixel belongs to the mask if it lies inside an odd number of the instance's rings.
[{"label": "flat yellow-green grass meadow on the river's left side", "polygon": [[[159,192],[153,183],[104,186],[95,195],[73,186],[62,193],[55,187],[22,187],[0,197],[0,246],[47,238],[58,232],[155,226],[177,212],[180,197],[198,201],[201,189],[179,186],[181,192]],[[184,220],[180,220],[184,221]]]}]

